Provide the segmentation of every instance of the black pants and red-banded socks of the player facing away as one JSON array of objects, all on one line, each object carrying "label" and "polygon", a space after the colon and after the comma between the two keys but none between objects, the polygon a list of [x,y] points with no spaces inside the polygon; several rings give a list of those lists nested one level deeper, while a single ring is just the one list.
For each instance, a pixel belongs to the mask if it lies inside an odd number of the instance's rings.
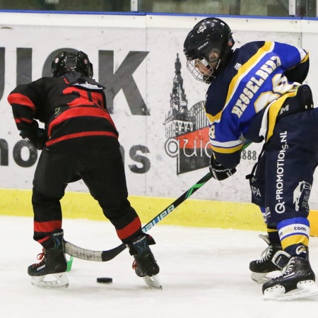
[{"label": "black pants and red-banded socks of the player facing away", "polygon": [[[124,164],[117,139],[107,151],[57,153],[43,149],[33,180],[34,240],[50,248],[49,234],[61,228],[60,200],[70,182],[82,179],[124,243],[140,235],[141,222],[127,197]],[[76,202],[74,204],[76,206]],[[76,208],[68,211],[76,216]],[[87,211],[89,216],[90,211]]]}]

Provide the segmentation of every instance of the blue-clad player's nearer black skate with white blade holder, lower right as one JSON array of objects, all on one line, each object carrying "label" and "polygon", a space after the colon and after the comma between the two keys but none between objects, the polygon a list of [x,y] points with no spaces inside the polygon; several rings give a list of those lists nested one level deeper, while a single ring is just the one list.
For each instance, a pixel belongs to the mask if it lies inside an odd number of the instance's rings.
[{"label": "blue-clad player's nearer black skate with white blade holder, lower right", "polygon": [[292,300],[318,295],[308,257],[290,257],[283,274],[264,283],[262,290],[266,300]]}]

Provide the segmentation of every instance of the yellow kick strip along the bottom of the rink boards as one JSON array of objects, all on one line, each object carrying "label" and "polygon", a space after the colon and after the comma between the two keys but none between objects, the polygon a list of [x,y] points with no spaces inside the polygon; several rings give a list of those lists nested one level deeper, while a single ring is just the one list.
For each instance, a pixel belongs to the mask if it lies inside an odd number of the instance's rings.
[{"label": "yellow kick strip along the bottom of the rink boards", "polygon": [[[0,189],[0,214],[7,216],[33,216],[30,190]],[[164,211],[175,198],[129,196],[131,205],[139,213],[142,223]],[[105,220],[100,206],[90,194],[66,192],[61,200],[64,218]],[[318,211],[310,211],[312,236],[318,236]],[[158,225],[181,225],[206,228],[233,228],[266,231],[259,208],[254,204],[225,201],[187,199]]]}]

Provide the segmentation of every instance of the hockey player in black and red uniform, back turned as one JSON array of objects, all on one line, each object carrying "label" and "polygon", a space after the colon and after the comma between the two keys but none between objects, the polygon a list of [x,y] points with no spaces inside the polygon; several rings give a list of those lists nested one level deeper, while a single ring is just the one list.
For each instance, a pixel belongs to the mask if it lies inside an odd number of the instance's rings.
[{"label": "hockey player in black and red uniform, back turned", "polygon": [[[69,285],[60,200],[70,182],[82,179],[129,247],[136,275],[160,287],[159,266],[149,247],[155,241],[141,230],[139,216],[127,199],[118,132],[107,111],[105,87],[93,79],[93,65],[81,51],[57,54],[52,75],[17,86],[8,95],[20,136],[42,151],[32,204],[33,238],[43,249],[40,263],[28,267],[32,283]],[[39,122],[45,129],[39,128]],[[54,281],[45,278],[49,274]]]}]

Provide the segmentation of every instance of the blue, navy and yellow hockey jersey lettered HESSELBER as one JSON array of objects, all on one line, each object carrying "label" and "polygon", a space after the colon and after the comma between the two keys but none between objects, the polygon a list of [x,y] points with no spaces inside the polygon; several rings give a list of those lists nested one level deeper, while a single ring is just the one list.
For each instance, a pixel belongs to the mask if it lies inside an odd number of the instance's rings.
[{"label": "blue, navy and yellow hockey jersey lettered HESSELBER", "polygon": [[308,52],[292,45],[259,41],[235,49],[206,93],[209,137],[218,162],[235,167],[246,139],[271,138],[283,102],[295,96],[308,68]]}]

